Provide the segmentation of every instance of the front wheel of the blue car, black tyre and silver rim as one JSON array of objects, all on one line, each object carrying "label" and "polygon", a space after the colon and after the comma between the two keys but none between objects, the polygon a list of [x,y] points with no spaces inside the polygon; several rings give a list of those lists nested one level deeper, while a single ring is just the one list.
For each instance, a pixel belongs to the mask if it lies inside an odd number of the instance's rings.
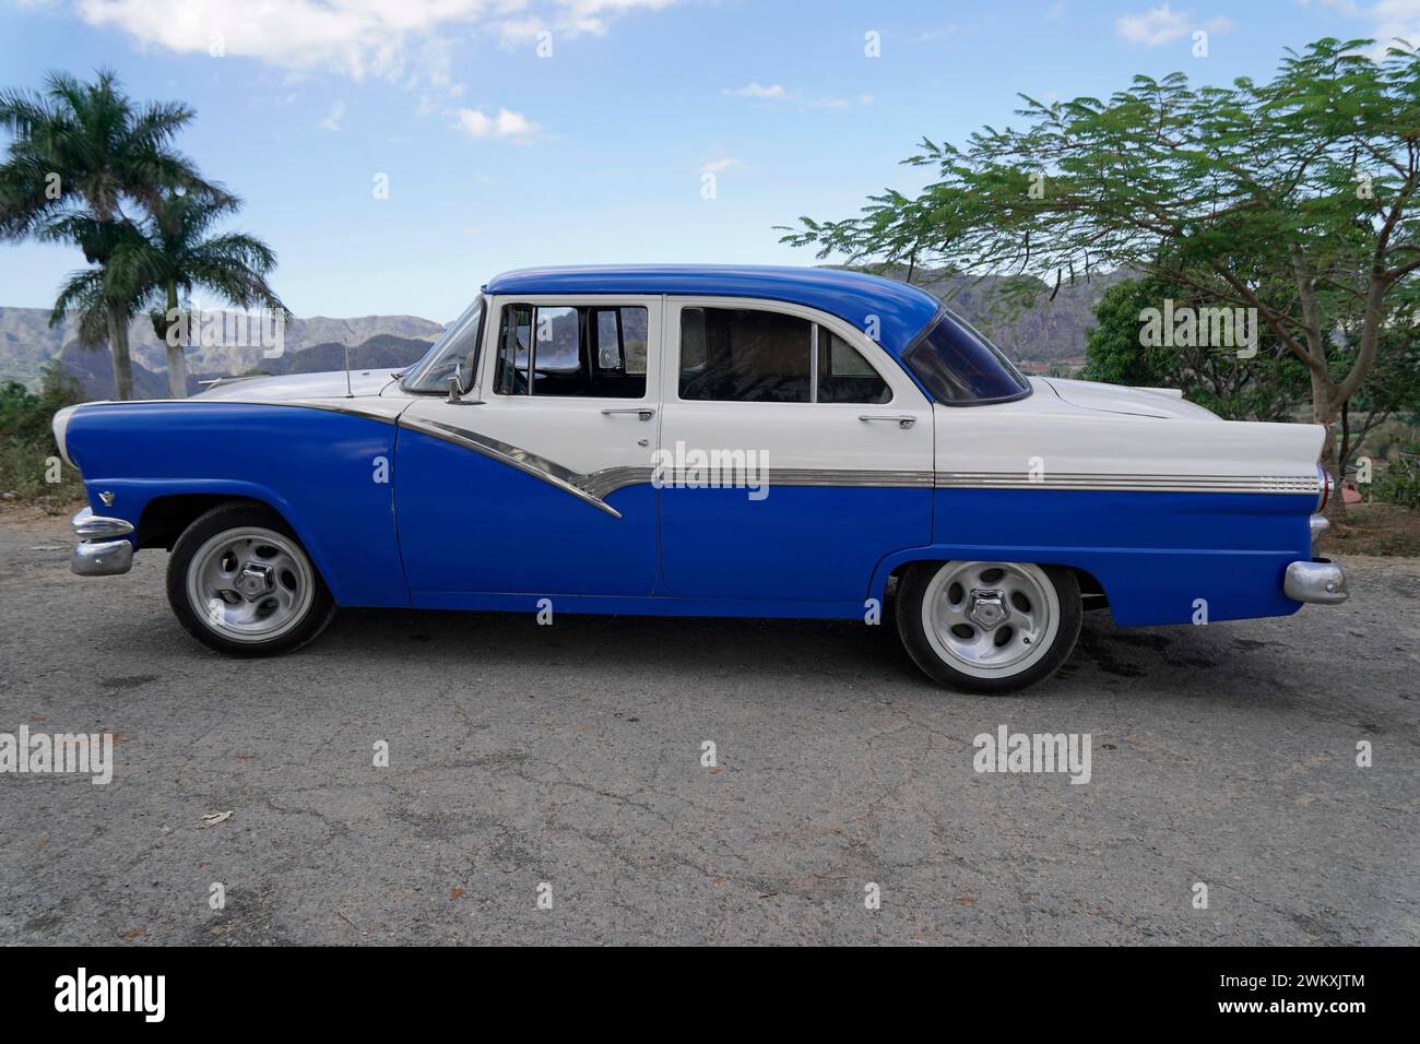
[{"label": "front wheel of the blue car, black tyre and silver rim", "polygon": [[233,656],[291,652],[335,615],[335,599],[290,527],[254,504],[223,504],[173,544],[168,601],[193,638]]}]

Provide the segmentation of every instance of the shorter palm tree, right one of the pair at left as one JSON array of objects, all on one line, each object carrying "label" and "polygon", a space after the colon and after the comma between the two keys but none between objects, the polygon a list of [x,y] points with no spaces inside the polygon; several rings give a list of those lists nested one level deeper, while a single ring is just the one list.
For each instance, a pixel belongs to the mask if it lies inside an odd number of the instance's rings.
[{"label": "shorter palm tree, right one of the pair at left", "polygon": [[175,399],[187,395],[183,349],[192,335],[190,322],[180,321],[190,318],[190,312],[179,312],[179,290],[190,297],[193,287],[204,287],[239,308],[260,307],[283,320],[291,317],[267,283],[275,268],[271,247],[241,232],[206,236],[213,223],[240,209],[236,196],[175,192],[155,207],[143,234],[114,251],[111,268],[116,286],[129,291],[128,300],[135,305],[146,303],[155,308],[149,315],[158,339],[168,345],[168,388]]}]

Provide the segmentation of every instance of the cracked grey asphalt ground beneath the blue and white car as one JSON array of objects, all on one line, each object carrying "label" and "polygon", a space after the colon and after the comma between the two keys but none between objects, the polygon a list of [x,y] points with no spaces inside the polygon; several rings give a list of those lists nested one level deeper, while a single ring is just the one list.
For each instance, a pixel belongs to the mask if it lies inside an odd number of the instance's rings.
[{"label": "cracked grey asphalt ground beneath the blue and white car", "polygon": [[[166,555],[81,580],[10,510],[0,732],[118,739],[108,785],[0,774],[0,943],[1413,945],[1420,562],[1346,565],[1288,619],[1089,614],[977,697],[855,624],[346,612],[230,660]],[[974,771],[1001,724],[1091,781]]]}]

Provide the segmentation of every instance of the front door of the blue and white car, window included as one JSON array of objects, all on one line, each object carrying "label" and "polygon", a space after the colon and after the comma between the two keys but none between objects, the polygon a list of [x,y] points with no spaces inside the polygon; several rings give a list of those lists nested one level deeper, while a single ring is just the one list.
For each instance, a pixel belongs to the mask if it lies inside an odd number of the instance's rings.
[{"label": "front door of the blue and white car, window included", "polygon": [[395,514],[416,604],[653,594],[660,308],[488,298],[473,388],[399,420]]}]

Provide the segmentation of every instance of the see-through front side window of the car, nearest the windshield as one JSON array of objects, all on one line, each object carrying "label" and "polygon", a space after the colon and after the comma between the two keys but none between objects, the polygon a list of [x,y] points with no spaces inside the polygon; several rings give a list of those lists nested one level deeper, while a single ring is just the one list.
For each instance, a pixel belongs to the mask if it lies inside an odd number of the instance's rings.
[{"label": "see-through front side window of the car, nearest the windshield", "polygon": [[508,304],[498,317],[498,395],[640,399],[648,314],[632,305]]}]

